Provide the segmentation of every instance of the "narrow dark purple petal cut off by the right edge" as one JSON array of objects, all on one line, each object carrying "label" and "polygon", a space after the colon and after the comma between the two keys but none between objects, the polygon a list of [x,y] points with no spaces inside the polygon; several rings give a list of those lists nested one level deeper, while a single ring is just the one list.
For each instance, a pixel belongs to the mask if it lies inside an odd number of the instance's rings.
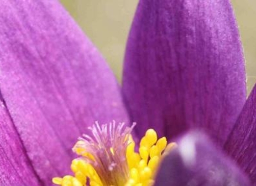
[{"label": "narrow dark purple petal cut off by the right edge", "polygon": [[256,86],[230,133],[225,150],[256,184]]}]

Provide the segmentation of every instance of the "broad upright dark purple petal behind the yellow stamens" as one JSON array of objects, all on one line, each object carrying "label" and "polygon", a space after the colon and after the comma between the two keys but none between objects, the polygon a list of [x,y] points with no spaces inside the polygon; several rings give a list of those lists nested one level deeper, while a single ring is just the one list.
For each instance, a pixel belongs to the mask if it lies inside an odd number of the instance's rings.
[{"label": "broad upright dark purple petal behind the yellow stamens", "polygon": [[204,128],[223,145],[245,102],[245,70],[228,0],[141,0],[123,92],[142,136]]}]

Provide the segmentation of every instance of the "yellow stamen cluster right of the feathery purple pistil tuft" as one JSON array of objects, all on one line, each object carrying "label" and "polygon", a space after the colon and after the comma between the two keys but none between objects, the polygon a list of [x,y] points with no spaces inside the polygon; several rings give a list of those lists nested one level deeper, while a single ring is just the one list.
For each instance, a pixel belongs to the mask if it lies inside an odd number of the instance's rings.
[{"label": "yellow stamen cluster right of the feathery purple pistil tuft", "polygon": [[[155,130],[148,129],[140,141],[139,153],[134,151],[135,143],[131,142],[126,149],[126,158],[130,169],[130,177],[125,186],[149,186],[154,184],[154,177],[161,159],[176,146],[165,137],[157,140]],[[166,146],[167,145],[167,146]]]}]

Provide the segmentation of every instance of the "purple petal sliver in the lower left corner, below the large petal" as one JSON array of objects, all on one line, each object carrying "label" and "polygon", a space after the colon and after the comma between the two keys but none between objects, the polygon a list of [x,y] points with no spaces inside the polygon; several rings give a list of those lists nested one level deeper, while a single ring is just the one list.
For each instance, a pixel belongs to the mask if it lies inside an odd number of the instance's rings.
[{"label": "purple petal sliver in the lower left corner, below the large petal", "polygon": [[41,185],[0,98],[0,185]]}]

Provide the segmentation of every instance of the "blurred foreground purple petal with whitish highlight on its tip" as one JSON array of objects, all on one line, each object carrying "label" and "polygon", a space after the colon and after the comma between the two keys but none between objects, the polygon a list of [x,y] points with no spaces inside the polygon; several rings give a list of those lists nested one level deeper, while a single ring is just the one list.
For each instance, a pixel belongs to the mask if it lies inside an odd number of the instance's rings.
[{"label": "blurred foreground purple petal with whitish highlight on its tip", "polygon": [[155,185],[246,186],[250,182],[205,136],[190,132],[163,159]]}]

